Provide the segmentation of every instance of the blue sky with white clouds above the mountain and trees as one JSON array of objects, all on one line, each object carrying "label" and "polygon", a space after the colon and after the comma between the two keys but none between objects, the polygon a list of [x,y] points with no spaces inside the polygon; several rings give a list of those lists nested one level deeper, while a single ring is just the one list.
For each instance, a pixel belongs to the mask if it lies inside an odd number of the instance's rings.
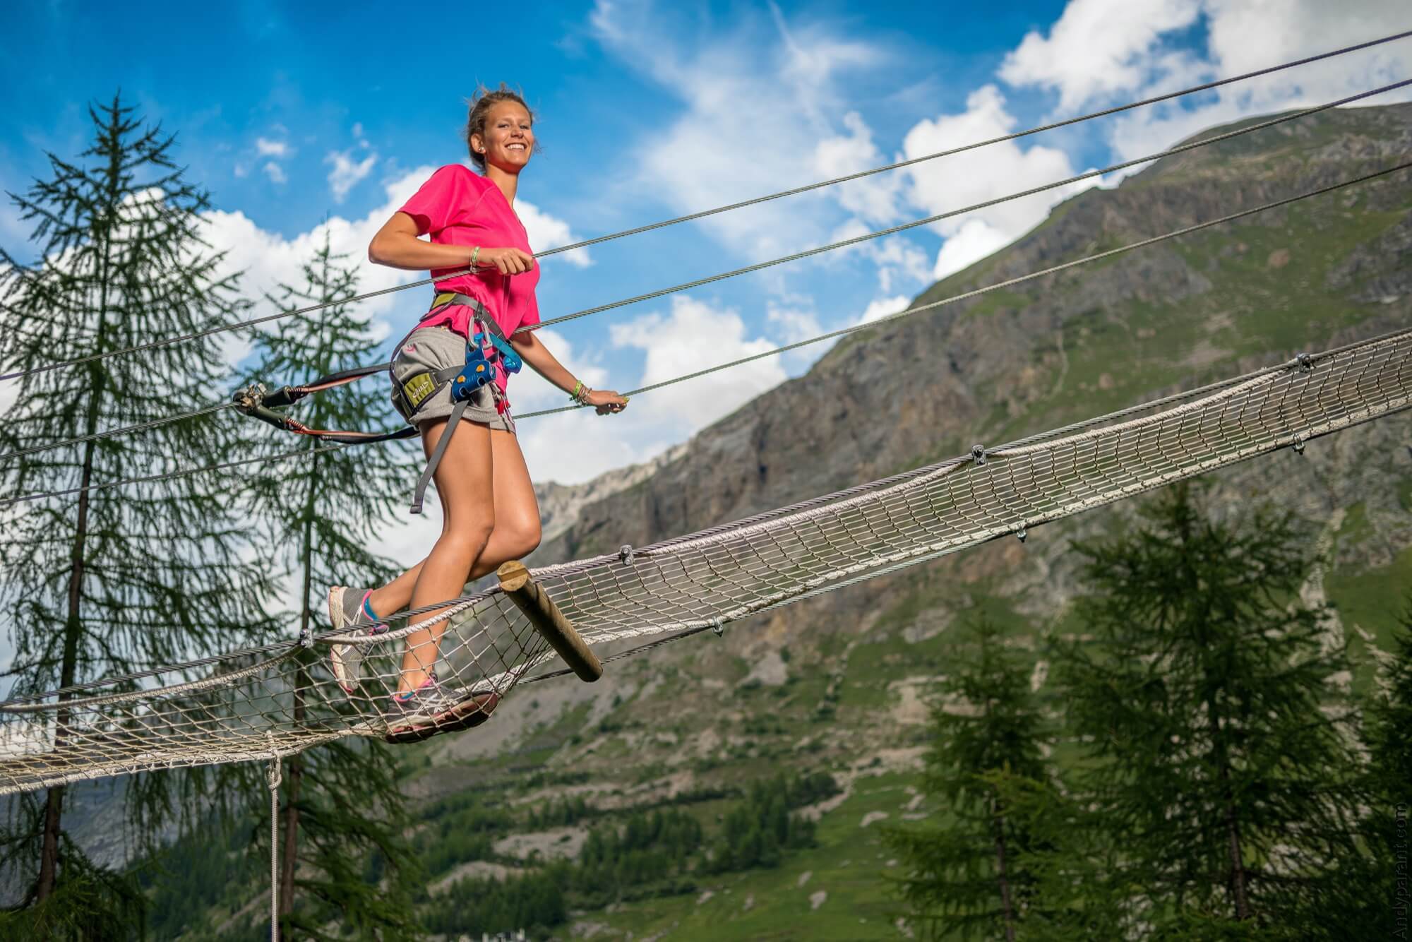
[{"label": "blue sky with white clouds above the mountain and trees", "polygon": [[[121,89],[178,133],[212,192],[209,237],[250,297],[292,277],[323,226],[364,287],[367,237],[431,168],[465,158],[477,82],[520,85],[544,145],[518,209],[538,249],[931,153],[1412,25],[1351,0],[599,3],[505,6],[6,4],[0,186],[80,151],[86,105]],[[897,225],[1166,147],[1250,113],[1409,75],[1412,42],[545,261],[545,318]],[[1114,181],[1107,181],[1114,182]],[[899,309],[1021,236],[1072,191],[548,333],[594,386],[630,388]],[[0,244],[30,254],[0,208]],[[405,330],[425,290],[369,306]],[[683,441],[822,349],[642,397],[621,417],[521,428],[531,472],[583,480]],[[240,357],[233,347],[232,359]],[[268,377],[285,381],[291,377]],[[561,395],[521,377],[525,411]]]}]

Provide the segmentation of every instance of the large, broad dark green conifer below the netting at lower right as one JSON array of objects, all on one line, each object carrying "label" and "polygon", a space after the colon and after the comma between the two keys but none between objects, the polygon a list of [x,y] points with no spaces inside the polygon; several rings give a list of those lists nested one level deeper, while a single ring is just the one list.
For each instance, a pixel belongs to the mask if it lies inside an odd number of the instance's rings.
[{"label": "large, broad dark green conifer below the netting at lower right", "polygon": [[1144,524],[1079,545],[1091,641],[1055,676],[1086,746],[1084,801],[1124,849],[1156,935],[1276,936],[1351,850],[1347,669],[1327,612],[1299,600],[1312,559],[1286,514],[1217,523],[1192,487]]}]

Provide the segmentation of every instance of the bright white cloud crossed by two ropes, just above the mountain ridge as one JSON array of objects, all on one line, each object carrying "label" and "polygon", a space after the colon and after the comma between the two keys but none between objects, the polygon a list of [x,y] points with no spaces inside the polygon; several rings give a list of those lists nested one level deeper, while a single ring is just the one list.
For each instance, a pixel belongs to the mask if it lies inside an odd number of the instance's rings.
[{"label": "bright white cloud crossed by two ropes, just above the mountain ridge", "polygon": [[[1014,129],[1015,119],[1005,107],[1005,97],[994,85],[986,85],[970,93],[963,113],[918,121],[907,133],[902,148],[908,157],[919,157],[1000,137]],[[1072,177],[1073,167],[1058,148],[1042,144],[1022,148],[1017,141],[1005,141],[914,164],[907,174],[911,178],[908,199],[928,215],[936,215]],[[932,275],[942,278],[1012,242],[1043,220],[1055,203],[1091,185],[1073,184],[943,219],[935,227],[946,243]]]}]

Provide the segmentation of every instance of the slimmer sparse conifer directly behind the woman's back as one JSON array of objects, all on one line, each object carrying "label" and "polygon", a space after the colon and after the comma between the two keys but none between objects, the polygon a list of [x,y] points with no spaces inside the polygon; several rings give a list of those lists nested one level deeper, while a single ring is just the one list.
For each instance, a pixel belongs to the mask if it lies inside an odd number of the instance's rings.
[{"label": "slimmer sparse conifer directly behind the woman's back", "polygon": [[[325,233],[304,266],[304,284],[282,285],[270,301],[285,309],[356,294],[357,277],[340,264],[343,258],[332,253]],[[258,376],[291,381],[367,363],[377,346],[369,321],[343,304],[281,321],[254,340]],[[390,412],[387,384],[366,380],[308,400],[301,421],[315,428],[367,429],[384,425]],[[261,448],[288,448],[285,436],[256,429]],[[306,442],[311,449],[319,445],[313,438]],[[268,558],[291,576],[292,627],[301,633],[325,627],[326,586],[380,585],[393,575],[391,561],[367,545],[414,476],[405,449],[381,445],[312,455],[278,477],[251,482],[256,520],[264,542],[274,548]],[[332,685],[326,674],[319,676],[323,668],[316,654],[299,654],[295,722],[305,715],[311,684]],[[268,840],[268,816],[264,821],[257,830]],[[395,763],[383,743],[337,740],[288,760],[281,825],[280,907],[289,938],[325,938],[321,926],[329,918],[364,935],[395,931],[397,938],[409,938],[415,932],[411,895],[419,869],[401,836],[407,816]],[[384,864],[380,883],[363,876],[361,861],[374,853]]]}]

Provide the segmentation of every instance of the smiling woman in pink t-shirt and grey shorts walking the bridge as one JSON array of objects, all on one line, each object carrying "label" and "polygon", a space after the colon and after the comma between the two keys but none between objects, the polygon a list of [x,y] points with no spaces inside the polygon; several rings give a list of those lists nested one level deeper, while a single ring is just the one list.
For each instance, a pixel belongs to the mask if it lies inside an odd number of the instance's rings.
[{"label": "smiling woman in pink t-shirt and grey shorts walking the bridge", "polygon": [[[442,167],[369,244],[371,261],[429,268],[436,281],[432,309],[397,345],[391,374],[393,404],[417,427],[428,455],[424,483],[435,475],[442,534],[426,559],[380,589],[333,586],[329,619],[339,631],[378,634],[387,630],[378,612],[452,599],[466,582],[539,544],[539,507],[505,398],[521,360],[600,415],[627,405],[617,393],[578,381],[534,332],[515,335],[539,322],[539,267],[514,210],[520,172],[535,150],[524,99],[504,85],[481,88],[470,102],[466,144],[481,172]],[[407,637],[387,710],[394,739],[473,726],[496,706],[494,693],[438,684],[432,668],[445,630],[441,621]],[[356,644],[330,648],[333,674],[349,693],[359,688],[360,651]]]}]

